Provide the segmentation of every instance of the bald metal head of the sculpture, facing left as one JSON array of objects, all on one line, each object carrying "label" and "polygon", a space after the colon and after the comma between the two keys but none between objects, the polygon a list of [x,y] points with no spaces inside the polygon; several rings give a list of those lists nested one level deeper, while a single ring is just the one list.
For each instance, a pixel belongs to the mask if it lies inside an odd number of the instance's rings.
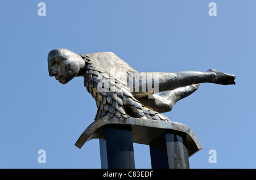
[{"label": "bald metal head of the sculpture, facing left", "polygon": [[81,76],[85,62],[79,54],[68,49],[54,49],[48,54],[49,76],[55,76],[61,84]]}]

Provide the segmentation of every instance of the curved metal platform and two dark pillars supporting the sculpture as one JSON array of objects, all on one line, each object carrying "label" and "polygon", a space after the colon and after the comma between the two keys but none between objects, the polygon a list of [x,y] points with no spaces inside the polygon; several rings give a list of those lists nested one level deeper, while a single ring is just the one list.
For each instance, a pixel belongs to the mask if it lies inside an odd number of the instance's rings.
[{"label": "curved metal platform and two dark pillars supporting the sculpture", "polygon": [[188,158],[202,149],[195,133],[177,122],[103,117],[90,124],[76,146],[100,139],[102,168],[135,168],[133,143],[150,145],[152,168],[189,168]]}]

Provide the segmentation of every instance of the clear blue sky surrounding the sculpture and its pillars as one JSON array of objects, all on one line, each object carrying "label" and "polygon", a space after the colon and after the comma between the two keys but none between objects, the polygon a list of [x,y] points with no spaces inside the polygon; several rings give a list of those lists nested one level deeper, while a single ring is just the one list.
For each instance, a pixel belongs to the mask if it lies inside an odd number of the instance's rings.
[{"label": "clear blue sky surrounding the sculpture and its pillars", "polygon": [[[46,16],[38,16],[39,2]],[[210,2],[217,16],[209,16]],[[255,8],[254,0],[1,2],[0,168],[101,168],[97,139],[74,145],[96,103],[82,78],[62,85],[49,77],[56,48],[113,52],[137,71],[236,75],[236,85],[201,84],[164,115],[203,145],[191,168],[256,168]],[[146,145],[134,144],[134,154],[136,168],[151,168]]]}]

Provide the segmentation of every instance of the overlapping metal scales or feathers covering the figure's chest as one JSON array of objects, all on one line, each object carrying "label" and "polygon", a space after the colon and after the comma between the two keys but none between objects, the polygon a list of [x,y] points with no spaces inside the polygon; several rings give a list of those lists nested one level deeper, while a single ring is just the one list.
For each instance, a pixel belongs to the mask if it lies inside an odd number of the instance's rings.
[{"label": "overlapping metal scales or feathers covering the figure's chest", "polygon": [[128,117],[170,121],[167,117],[146,108],[133,97],[126,84],[112,77],[108,72],[98,70],[88,54],[80,54],[86,63],[84,86],[97,104],[95,120],[108,116],[121,121]]}]

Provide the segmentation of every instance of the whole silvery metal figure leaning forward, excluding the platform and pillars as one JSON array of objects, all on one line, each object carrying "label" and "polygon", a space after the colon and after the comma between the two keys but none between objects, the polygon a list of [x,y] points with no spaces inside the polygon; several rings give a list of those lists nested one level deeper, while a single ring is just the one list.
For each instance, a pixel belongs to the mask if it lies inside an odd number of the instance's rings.
[{"label": "whole silvery metal figure leaning forward, excluding the platform and pillars", "polygon": [[[48,54],[48,70],[49,76],[55,76],[62,84],[76,76],[84,77],[87,91],[96,100],[95,120],[135,117],[170,121],[160,113],[169,112],[177,101],[195,92],[200,83],[236,84],[236,76],[213,69],[138,72],[112,52],[76,54],[55,49]],[[163,93],[157,95],[158,92]]]}]

